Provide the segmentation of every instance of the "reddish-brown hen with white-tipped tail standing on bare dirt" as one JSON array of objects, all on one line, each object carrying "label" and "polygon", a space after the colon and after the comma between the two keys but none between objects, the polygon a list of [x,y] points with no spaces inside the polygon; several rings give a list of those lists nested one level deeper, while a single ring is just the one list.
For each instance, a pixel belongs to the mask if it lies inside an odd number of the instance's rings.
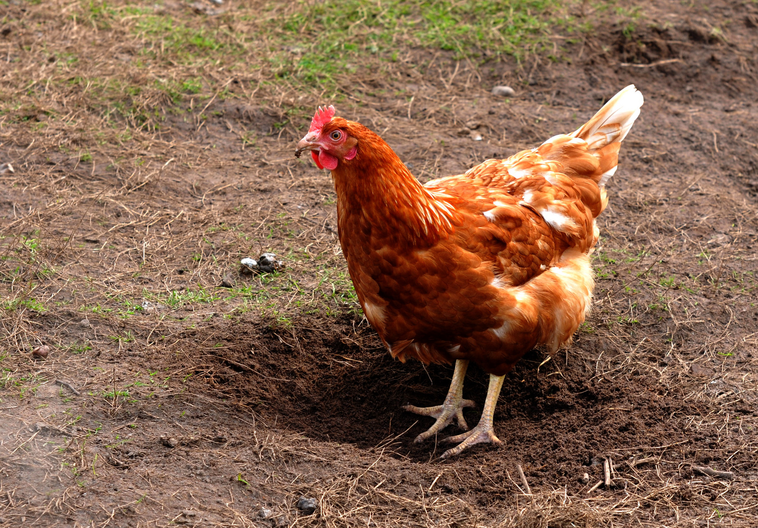
[{"label": "reddish-brown hen with white-tipped tail standing on bare dirt", "polygon": [[[500,444],[493,413],[503,379],[528,350],[569,344],[590,310],[595,218],[608,199],[619,147],[640,114],[634,85],[572,134],[508,159],[421,185],[362,124],[318,108],[295,152],[310,150],[337,190],[340,244],[366,319],[399,360],[453,363],[442,405],[406,406],[465,430],[443,458]],[[462,410],[470,362],[490,374],[481,419]]]}]

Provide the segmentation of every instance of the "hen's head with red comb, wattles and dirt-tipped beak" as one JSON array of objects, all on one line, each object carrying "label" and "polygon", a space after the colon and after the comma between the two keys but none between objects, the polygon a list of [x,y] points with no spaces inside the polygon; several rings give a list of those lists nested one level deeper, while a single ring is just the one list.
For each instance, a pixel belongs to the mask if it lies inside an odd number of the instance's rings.
[{"label": "hen's head with red comb, wattles and dirt-tipped beak", "polygon": [[[318,168],[334,171],[342,162],[349,161],[358,153],[358,140],[353,130],[357,123],[334,117],[334,106],[318,107],[308,134],[297,144],[295,156],[303,150],[310,150]],[[359,125],[360,126],[360,125]]]}]

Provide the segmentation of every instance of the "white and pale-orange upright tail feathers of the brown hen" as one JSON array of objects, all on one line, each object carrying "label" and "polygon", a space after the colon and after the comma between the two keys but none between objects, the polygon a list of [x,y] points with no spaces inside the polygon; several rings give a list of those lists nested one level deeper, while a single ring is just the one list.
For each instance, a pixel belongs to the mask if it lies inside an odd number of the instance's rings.
[{"label": "white and pale-orange upright tail feathers of the brown hen", "polygon": [[590,152],[611,143],[621,143],[640,115],[643,102],[642,94],[634,84],[630,84],[606,102],[590,121],[570,135],[586,141]]}]

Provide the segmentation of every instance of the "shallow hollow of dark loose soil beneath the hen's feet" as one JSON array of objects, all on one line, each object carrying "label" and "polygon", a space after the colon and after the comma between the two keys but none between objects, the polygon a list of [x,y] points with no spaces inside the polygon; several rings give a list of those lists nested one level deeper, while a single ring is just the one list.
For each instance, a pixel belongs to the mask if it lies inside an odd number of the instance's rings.
[{"label": "shallow hollow of dark loose soil beneath the hen's feet", "polygon": [[[298,325],[301,326],[301,325]],[[349,319],[339,327],[309,328],[294,334],[270,325],[239,325],[207,354],[198,375],[215,391],[255,408],[268,420],[309,438],[350,443],[362,449],[393,451],[413,460],[439,456],[458,434],[449,426],[437,438],[417,445],[413,439],[431,426],[426,416],[402,405],[441,404],[452,375],[450,366],[399,363],[370,329],[356,330]],[[597,465],[601,454],[686,440],[669,416],[684,404],[675,395],[659,394],[651,376],[621,368],[597,375],[603,350],[593,341],[578,341],[540,367],[544,354],[531,351],[506,376],[495,413],[496,435],[503,445],[475,446],[463,456],[483,455],[550,467],[546,480],[565,475],[563,464]],[[603,357],[624,357],[604,350]],[[208,365],[211,365],[208,368]],[[600,371],[602,372],[602,371]],[[612,377],[613,376],[613,377]],[[469,426],[478,422],[487,393],[487,375],[471,366],[464,396],[478,409],[466,410]],[[628,451],[630,454],[632,451]]]}]

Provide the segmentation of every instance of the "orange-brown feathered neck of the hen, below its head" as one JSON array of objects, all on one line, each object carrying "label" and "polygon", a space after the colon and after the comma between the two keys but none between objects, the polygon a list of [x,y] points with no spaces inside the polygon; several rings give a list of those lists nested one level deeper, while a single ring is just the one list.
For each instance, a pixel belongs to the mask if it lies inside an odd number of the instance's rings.
[{"label": "orange-brown feathered neck of the hen, below its head", "polygon": [[368,235],[423,247],[452,231],[454,210],[446,197],[419,184],[387,143],[362,150],[332,171],[340,238]]}]

